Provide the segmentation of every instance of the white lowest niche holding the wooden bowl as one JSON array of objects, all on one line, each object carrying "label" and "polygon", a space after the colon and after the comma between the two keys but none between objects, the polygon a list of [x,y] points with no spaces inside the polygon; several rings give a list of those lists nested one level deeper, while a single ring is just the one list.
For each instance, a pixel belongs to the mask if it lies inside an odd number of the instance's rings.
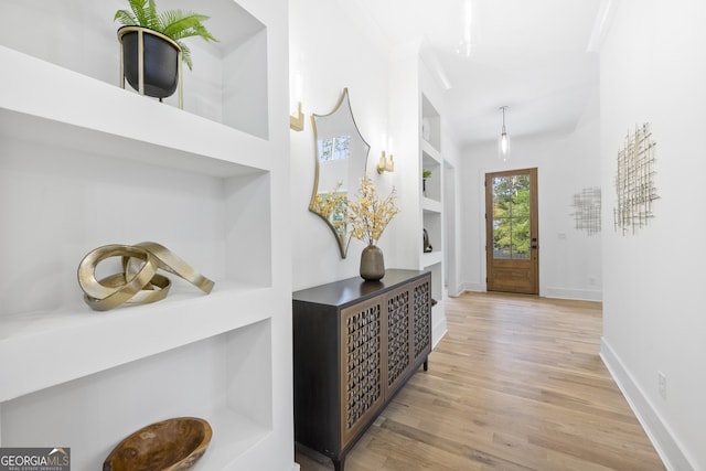
[{"label": "white lowest niche holding the wooden bowl", "polygon": [[239,459],[272,432],[271,343],[266,320],[6,402],[2,445],[71,443],[74,468],[99,469],[132,431],[193,416],[213,428],[200,468],[245,469]]}]

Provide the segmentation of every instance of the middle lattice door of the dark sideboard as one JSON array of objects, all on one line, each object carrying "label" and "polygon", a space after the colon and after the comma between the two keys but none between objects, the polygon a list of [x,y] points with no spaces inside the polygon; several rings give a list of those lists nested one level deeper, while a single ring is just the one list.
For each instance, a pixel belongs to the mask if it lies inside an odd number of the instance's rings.
[{"label": "middle lattice door of the dark sideboard", "polygon": [[410,319],[410,290],[408,287],[399,288],[387,295],[385,304],[387,309],[387,322],[385,336],[384,377],[385,397],[392,396],[405,382],[411,364],[411,319]]}]

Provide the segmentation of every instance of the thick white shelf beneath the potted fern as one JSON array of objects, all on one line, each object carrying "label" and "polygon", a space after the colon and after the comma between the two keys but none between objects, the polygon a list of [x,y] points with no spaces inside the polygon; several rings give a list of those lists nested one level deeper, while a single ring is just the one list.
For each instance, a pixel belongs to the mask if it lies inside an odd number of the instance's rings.
[{"label": "thick white shelf beneath the potted fern", "polygon": [[264,139],[4,46],[0,62],[13,71],[0,89],[4,136],[217,176],[270,170]]}]

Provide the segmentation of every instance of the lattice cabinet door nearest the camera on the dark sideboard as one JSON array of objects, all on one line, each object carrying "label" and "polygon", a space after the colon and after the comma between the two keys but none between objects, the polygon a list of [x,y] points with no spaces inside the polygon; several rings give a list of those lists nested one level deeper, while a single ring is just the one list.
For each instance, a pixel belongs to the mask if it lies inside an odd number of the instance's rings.
[{"label": "lattice cabinet door nearest the camera on the dark sideboard", "polygon": [[341,310],[341,448],[382,407],[384,297]]}]

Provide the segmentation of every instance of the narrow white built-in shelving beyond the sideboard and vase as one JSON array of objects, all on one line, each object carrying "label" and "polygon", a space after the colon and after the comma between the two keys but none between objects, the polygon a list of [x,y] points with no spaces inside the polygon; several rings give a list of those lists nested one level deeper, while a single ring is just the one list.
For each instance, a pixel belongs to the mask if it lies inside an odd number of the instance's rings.
[{"label": "narrow white built-in shelving beyond the sideboard and vase", "polygon": [[[395,216],[404,237],[395,245],[397,268],[431,272],[434,345],[447,332],[445,296],[443,226],[443,87],[432,73],[438,61],[426,61],[425,41],[400,44],[391,53],[391,132],[398,143],[396,184],[404,210]],[[424,181],[424,172],[431,175]],[[430,253],[424,250],[426,229]],[[408,234],[418,234],[409,237]]]}]

